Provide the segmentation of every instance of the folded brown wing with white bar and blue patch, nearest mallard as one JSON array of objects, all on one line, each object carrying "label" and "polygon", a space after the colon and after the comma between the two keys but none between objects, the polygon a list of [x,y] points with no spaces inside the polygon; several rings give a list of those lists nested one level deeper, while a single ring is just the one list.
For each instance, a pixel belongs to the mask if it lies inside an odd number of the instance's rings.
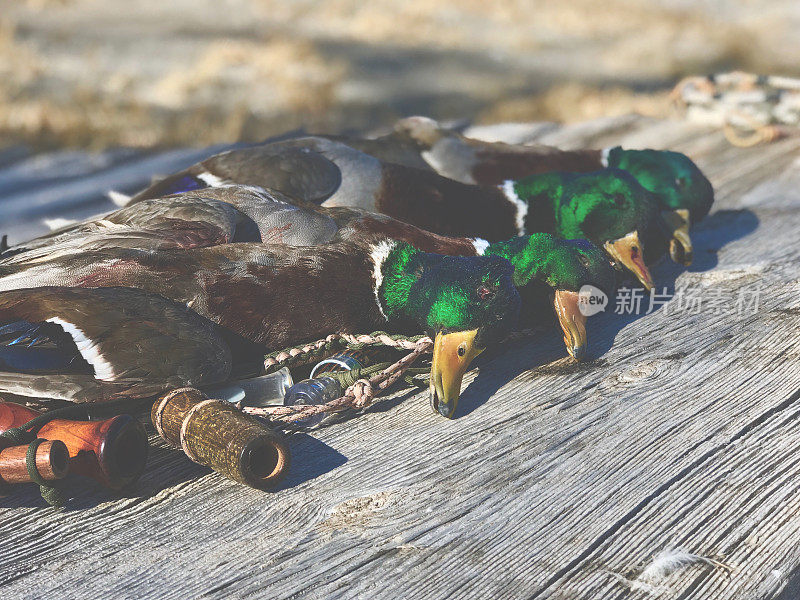
[{"label": "folded brown wing with white bar and blue patch, nearest mallard", "polygon": [[233,354],[213,323],[128,288],[0,293],[0,393],[103,400],[228,379]]}]

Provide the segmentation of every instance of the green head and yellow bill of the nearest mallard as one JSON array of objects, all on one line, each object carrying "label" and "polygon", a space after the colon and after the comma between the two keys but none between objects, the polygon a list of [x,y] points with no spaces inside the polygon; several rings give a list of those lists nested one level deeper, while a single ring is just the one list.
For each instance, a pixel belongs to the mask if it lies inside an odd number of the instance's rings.
[{"label": "green head and yellow bill of the nearest mallard", "polygon": [[435,340],[431,405],[452,418],[470,362],[516,326],[514,267],[498,256],[440,256],[396,243],[380,272],[378,298],[390,322]]}]

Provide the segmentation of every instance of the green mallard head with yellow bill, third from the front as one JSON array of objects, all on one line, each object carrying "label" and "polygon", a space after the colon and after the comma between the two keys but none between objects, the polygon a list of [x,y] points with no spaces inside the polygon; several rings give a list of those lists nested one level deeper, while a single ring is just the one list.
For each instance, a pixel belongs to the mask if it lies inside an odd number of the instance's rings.
[{"label": "green mallard head with yellow bill, third from the front", "polygon": [[[542,183],[548,192],[528,192]],[[650,192],[632,175],[619,169],[548,173],[525,178],[514,189],[520,198],[538,196],[539,206],[532,207],[525,217],[528,231],[544,224],[563,238],[590,240],[603,248],[615,265],[631,271],[646,289],[653,287],[642,238],[652,231],[657,208]],[[542,202],[547,205],[546,214]]]}]

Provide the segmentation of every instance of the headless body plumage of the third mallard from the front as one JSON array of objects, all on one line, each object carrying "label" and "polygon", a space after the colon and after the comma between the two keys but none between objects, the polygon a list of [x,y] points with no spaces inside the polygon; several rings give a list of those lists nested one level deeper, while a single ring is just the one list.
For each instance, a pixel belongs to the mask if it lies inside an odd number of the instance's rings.
[{"label": "headless body plumage of the third mallard from the front", "polygon": [[[291,167],[276,172],[275,157],[291,158]],[[289,159],[287,158],[287,161]],[[297,181],[309,169],[315,176],[319,165],[327,161],[324,184],[311,187],[287,183],[284,168],[291,168]],[[346,144],[321,137],[297,138],[231,150],[169,176],[131,198],[131,204],[169,193],[180,188],[187,175],[196,186],[221,186],[231,183],[268,188],[290,198],[323,204],[348,206],[380,212],[426,229],[428,222],[440,226],[433,229],[441,235],[471,235],[471,223],[482,223],[481,237],[488,240],[508,239],[517,235],[514,225],[516,207],[496,187],[466,185],[430,170],[383,162]],[[324,193],[318,193],[324,190]],[[190,190],[191,191],[191,190]],[[453,206],[459,206],[456,211]]]}]

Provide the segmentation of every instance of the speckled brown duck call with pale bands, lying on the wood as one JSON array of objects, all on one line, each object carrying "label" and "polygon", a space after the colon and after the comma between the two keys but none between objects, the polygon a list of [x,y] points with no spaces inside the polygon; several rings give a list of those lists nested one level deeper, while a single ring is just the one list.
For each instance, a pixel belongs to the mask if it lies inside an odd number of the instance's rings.
[{"label": "speckled brown duck call with pale bands, lying on the wood", "polygon": [[289,449],[279,434],[195,388],[162,396],[151,418],[161,437],[194,462],[239,483],[266,490],[288,470]]}]

